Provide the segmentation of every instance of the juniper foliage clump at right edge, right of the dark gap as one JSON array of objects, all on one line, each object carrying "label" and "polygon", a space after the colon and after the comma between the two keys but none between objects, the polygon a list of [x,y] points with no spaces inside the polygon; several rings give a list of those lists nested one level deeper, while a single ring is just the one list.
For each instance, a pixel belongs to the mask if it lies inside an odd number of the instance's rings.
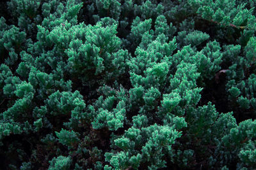
[{"label": "juniper foliage clump at right edge, right of the dark gap", "polygon": [[250,38],[244,47],[244,57],[238,56],[238,60],[227,71],[229,100],[232,104],[239,104],[243,110],[255,107],[255,43],[255,37]]}]

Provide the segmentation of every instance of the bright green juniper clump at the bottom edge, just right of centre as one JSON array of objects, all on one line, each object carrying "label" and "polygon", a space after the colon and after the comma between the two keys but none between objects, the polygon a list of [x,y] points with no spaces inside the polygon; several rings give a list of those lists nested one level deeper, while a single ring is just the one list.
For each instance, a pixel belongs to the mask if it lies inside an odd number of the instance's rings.
[{"label": "bright green juniper clump at the bottom edge, just right of centre", "polygon": [[[136,118],[134,118],[134,125]],[[159,161],[164,152],[171,150],[175,139],[181,136],[180,132],[168,125],[157,124],[138,129],[134,125],[125,131],[123,137],[115,139],[115,145],[122,152],[105,153],[106,160],[115,169],[132,167],[138,169],[140,164],[147,164],[148,169],[166,167],[166,161]]]}]

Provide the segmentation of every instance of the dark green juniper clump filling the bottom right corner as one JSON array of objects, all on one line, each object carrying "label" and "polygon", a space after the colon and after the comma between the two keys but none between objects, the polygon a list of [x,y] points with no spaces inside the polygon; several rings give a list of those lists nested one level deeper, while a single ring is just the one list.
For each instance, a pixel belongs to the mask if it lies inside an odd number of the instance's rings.
[{"label": "dark green juniper clump filling the bottom right corner", "polygon": [[241,162],[241,166],[255,167],[255,121],[245,120],[230,129],[230,133],[221,138],[214,155],[218,157],[214,162],[220,161],[219,166],[229,165],[230,160]]}]

